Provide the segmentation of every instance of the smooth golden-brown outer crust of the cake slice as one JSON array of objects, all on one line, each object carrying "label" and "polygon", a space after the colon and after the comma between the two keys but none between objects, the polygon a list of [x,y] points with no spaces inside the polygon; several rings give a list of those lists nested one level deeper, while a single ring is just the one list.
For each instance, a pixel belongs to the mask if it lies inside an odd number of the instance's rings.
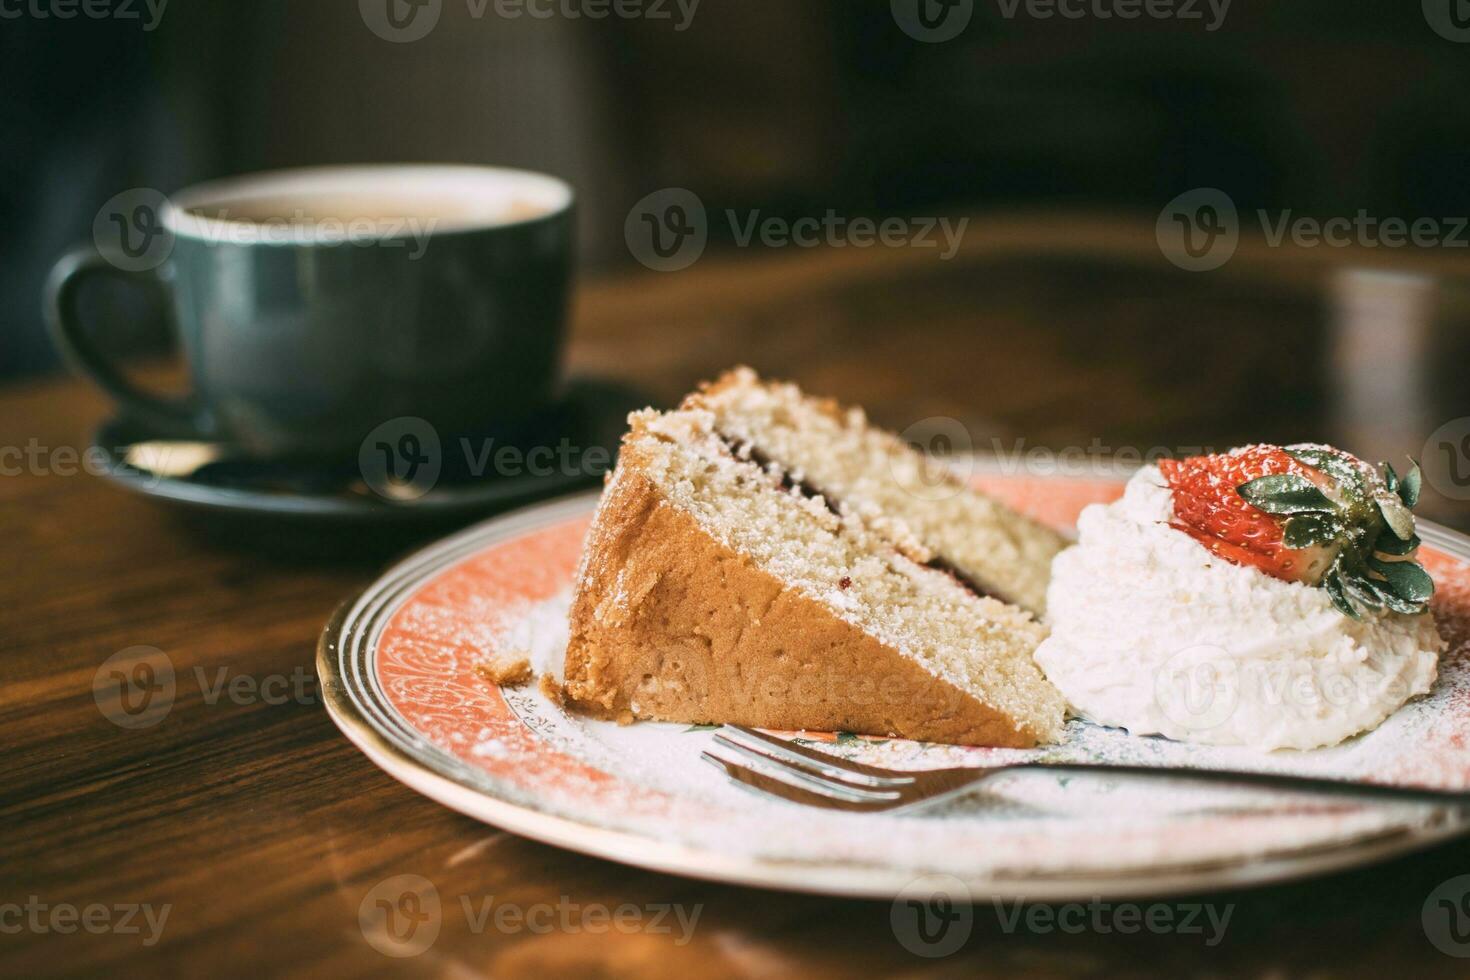
[{"label": "smooth golden-brown outer crust of the cake slice", "polygon": [[625,444],[588,535],[566,652],[572,707],[657,718],[1030,746],[936,677],[707,533]]}]

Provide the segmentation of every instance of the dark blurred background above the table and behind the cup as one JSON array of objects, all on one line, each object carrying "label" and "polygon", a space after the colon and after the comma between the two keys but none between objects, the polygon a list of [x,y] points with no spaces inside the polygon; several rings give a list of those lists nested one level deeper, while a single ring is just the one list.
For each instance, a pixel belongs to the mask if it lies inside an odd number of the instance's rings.
[{"label": "dark blurred background above the table and behind the cup", "polygon": [[[888,0],[703,0],[685,29],[672,0],[662,21],[444,0],[410,44],[376,37],[351,0],[173,0],[154,29],[143,0],[140,19],[6,16],[0,376],[57,369],[41,282],[109,197],[282,166],[557,173],[581,191],[589,276],[632,266],[628,207],[672,185],[786,217],[1151,222],[1205,185],[1242,213],[1470,213],[1470,44],[1419,3],[1239,0],[1214,31],[1202,0],[1194,21],[1005,6],[976,0],[945,43],[906,37]],[[729,244],[723,225],[711,235]],[[138,319],[119,342],[162,345]]]}]

